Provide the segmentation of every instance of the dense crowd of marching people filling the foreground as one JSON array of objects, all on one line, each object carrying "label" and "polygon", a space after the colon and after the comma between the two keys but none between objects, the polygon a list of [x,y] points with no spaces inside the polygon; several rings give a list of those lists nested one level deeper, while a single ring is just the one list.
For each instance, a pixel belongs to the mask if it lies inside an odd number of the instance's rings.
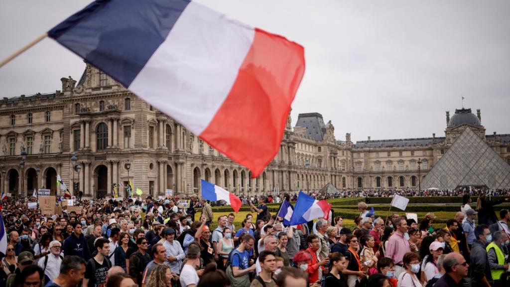
[{"label": "dense crowd of marching people filling the foreground", "polygon": [[215,217],[210,203],[195,197],[187,208],[150,196],[83,200],[79,214],[65,206],[61,214],[41,214],[23,200],[4,200],[0,285],[509,285],[510,212],[501,209],[498,220],[494,210],[507,199],[480,193],[474,204],[465,194],[442,225],[433,213],[420,222],[398,213],[375,218],[360,202],[352,230],[341,214],[285,226],[266,201],[250,199],[251,213],[236,226],[236,214]]}]

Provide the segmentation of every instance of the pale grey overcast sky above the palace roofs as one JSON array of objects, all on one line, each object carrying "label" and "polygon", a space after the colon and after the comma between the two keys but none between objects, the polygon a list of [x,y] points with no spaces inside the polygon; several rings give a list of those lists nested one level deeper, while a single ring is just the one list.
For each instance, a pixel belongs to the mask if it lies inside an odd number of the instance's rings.
[{"label": "pale grey overcast sky above the palace roofs", "polygon": [[[2,0],[0,58],[89,2]],[[510,1],[199,2],[304,46],[293,125],[319,112],[341,140],[444,136],[464,96],[487,133],[510,133]],[[2,97],[54,92],[84,67],[45,39],[0,68]]]}]

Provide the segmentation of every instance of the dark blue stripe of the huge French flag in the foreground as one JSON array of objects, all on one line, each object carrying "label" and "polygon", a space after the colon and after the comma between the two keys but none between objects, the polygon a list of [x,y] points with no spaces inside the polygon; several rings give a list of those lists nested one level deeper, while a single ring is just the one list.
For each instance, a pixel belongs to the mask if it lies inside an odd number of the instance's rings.
[{"label": "dark blue stripe of the huge French flag in the foreground", "polygon": [[129,87],[189,0],[97,0],[48,36]]}]

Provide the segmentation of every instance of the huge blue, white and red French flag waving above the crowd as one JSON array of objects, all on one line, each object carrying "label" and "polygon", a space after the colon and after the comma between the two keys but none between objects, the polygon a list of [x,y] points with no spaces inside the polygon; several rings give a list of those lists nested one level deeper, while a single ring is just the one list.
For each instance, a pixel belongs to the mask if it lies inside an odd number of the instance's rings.
[{"label": "huge blue, white and red French flag waving above the crowd", "polygon": [[304,74],[297,43],[188,0],[98,0],[48,36],[257,177]]}]

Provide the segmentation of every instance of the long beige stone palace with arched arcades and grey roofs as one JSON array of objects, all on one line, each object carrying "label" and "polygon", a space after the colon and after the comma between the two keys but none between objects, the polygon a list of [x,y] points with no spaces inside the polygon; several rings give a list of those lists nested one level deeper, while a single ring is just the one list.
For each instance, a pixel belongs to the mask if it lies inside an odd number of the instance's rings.
[{"label": "long beige stone palace with arched arcades and grey roofs", "polygon": [[249,170],[92,65],[86,63],[79,81],[61,82],[52,93],[0,101],[1,192],[27,196],[47,188],[63,195],[58,175],[87,198],[111,196],[115,185],[124,197],[122,185],[130,180],[144,196],[165,189],[181,197],[198,194],[200,179],[238,195],[318,190],[327,183],[339,190],[418,188],[468,128],[510,164],[510,134],[486,134],[480,110],[446,112],[444,137],[355,143],[350,134],[337,140],[321,114],[303,113],[295,127],[289,116],[278,155],[251,179]]}]

